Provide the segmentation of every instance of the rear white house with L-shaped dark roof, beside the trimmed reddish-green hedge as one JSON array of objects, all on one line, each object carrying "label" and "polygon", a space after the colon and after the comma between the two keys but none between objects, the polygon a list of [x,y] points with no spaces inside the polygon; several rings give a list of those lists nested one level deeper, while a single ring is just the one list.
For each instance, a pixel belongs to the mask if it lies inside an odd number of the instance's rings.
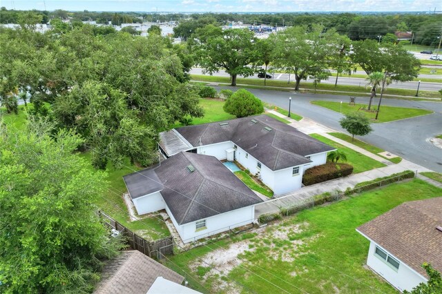
[{"label": "rear white house with L-shaped dark roof, beside the trimmed reddish-green hedge", "polygon": [[160,133],[159,146],[166,157],[187,151],[236,160],[275,195],[300,189],[305,170],[335,150],[267,115],[172,129]]}]

